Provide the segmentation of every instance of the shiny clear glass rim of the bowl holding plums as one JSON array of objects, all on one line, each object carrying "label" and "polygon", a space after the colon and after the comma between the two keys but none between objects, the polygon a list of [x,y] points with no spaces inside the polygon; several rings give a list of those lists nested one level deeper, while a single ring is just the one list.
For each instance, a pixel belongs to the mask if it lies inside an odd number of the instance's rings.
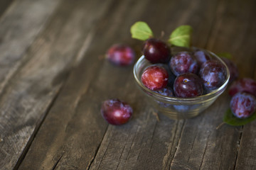
[{"label": "shiny clear glass rim of the bowl holding plums", "polygon": [[215,89],[213,91],[211,91],[208,94],[204,94],[201,96],[196,96],[193,98],[178,98],[178,97],[170,97],[170,96],[164,96],[161,94],[156,93],[155,91],[151,91],[150,89],[147,89],[146,86],[144,86],[142,84],[142,82],[139,80],[139,66],[140,64],[142,64],[142,62],[146,61],[146,59],[144,58],[144,55],[142,55],[142,57],[139,58],[139,60],[137,60],[137,62],[134,64],[134,68],[133,68],[133,74],[134,74],[134,79],[136,80],[137,84],[139,85],[140,88],[142,88],[146,94],[148,94],[151,97],[154,98],[158,98],[161,101],[171,101],[171,102],[192,102],[192,101],[205,101],[207,99],[213,98],[214,96],[218,96],[218,94],[222,94],[222,92],[225,90],[226,86],[228,85],[228,81],[230,79],[230,71],[228,69],[227,64],[225,64],[225,62],[223,60],[220,59],[220,57],[218,57],[218,55],[215,55],[215,53],[210,52],[209,50],[205,50],[205,49],[201,49],[196,47],[196,49],[199,50],[203,50],[206,51],[208,53],[210,53],[210,55],[213,55],[215,58],[217,58],[222,64],[224,64],[226,70],[227,70],[227,79],[225,79],[225,82],[223,83],[223,85],[221,85],[218,89]]}]

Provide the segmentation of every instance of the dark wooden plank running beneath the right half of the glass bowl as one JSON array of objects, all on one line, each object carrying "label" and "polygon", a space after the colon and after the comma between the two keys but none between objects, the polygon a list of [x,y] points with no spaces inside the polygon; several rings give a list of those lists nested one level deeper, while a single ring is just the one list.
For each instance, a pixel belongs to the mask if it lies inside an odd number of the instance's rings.
[{"label": "dark wooden plank running beneath the right half of the glass bowl", "polygon": [[[255,8],[252,4],[252,1],[220,1],[207,45],[214,52],[231,52],[235,61],[250,61],[246,65],[246,62],[238,62],[242,70],[241,77],[246,76],[244,72],[255,69],[255,57],[252,55],[255,48],[247,50],[247,45],[255,42],[253,33],[247,33]],[[252,73],[246,77],[250,75]],[[234,169],[242,128],[224,125],[215,130],[222,122],[229,102],[228,93],[224,93],[202,116],[186,121],[171,169]],[[245,160],[250,159],[245,157]],[[250,169],[252,166],[243,165],[241,169]]]}]

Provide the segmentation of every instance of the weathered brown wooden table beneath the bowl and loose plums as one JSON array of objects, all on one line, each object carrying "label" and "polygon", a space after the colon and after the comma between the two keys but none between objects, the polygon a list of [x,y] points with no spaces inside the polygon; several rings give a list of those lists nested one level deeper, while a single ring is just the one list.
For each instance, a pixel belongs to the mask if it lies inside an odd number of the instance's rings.
[{"label": "weathered brown wooden table beneath the bowl and loose plums", "polygon": [[[122,42],[141,55],[129,28],[146,21],[164,40],[193,26],[193,45],[230,52],[240,77],[256,79],[254,0],[1,0],[0,169],[256,169],[256,121],[223,125],[225,91],[196,118],[159,115],[137,88],[132,66],[106,50]],[[102,101],[134,108],[108,125]]]}]

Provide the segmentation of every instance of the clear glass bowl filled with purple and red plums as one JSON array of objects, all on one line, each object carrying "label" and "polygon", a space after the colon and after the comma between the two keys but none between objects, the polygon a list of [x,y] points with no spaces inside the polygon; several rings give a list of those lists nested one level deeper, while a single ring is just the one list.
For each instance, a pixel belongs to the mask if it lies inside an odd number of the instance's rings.
[{"label": "clear glass bowl filled with purple and red plums", "polygon": [[[175,54],[176,52],[180,51],[189,51],[184,50],[184,48],[176,48],[171,50],[172,54]],[[163,96],[161,94],[158,94],[154,91],[147,89],[142,84],[141,77],[144,69],[151,65],[151,63],[144,59],[144,56],[142,55],[142,57],[140,57],[139,60],[134,64],[134,79],[137,82],[139,89],[141,89],[143,94],[146,95],[148,101],[156,109],[156,111],[158,111],[159,113],[163,113],[171,119],[193,118],[202,111],[204,111],[206,108],[208,108],[216,100],[216,98],[218,98],[218,96],[220,96],[220,94],[222,94],[223,91],[225,91],[226,87],[228,86],[228,80],[230,79],[230,72],[228,70],[227,65],[225,64],[225,62],[223,62],[223,60],[220,59],[220,57],[215,55],[213,52],[209,52],[208,50],[204,51],[208,52],[208,54],[212,57],[213,60],[219,60],[225,65],[225,68],[227,69],[227,77],[225,79],[224,84],[220,86],[218,89],[211,91],[209,94],[197,96],[194,98],[177,98]]]}]

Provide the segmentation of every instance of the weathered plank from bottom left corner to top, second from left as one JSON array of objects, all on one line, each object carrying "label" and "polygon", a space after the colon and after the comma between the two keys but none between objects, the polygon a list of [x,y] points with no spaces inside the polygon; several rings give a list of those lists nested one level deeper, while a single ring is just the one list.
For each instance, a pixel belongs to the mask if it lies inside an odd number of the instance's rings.
[{"label": "weathered plank from bottom left corner to top, second from left", "polygon": [[[41,2],[47,5],[46,1],[31,3],[36,6],[33,9],[35,13],[38,10],[40,14],[43,11],[41,8],[49,8],[41,6]],[[26,147],[33,140],[68,71],[79,62],[82,55],[80,48],[85,51],[92,40],[93,23],[104,13],[108,4],[99,5],[99,1],[63,1],[46,29],[26,52],[23,57],[26,60],[7,83],[0,98],[1,169],[13,169],[18,159],[23,159],[22,154],[26,154]],[[94,13],[96,6],[97,13]],[[20,40],[16,43],[22,44]]]}]

